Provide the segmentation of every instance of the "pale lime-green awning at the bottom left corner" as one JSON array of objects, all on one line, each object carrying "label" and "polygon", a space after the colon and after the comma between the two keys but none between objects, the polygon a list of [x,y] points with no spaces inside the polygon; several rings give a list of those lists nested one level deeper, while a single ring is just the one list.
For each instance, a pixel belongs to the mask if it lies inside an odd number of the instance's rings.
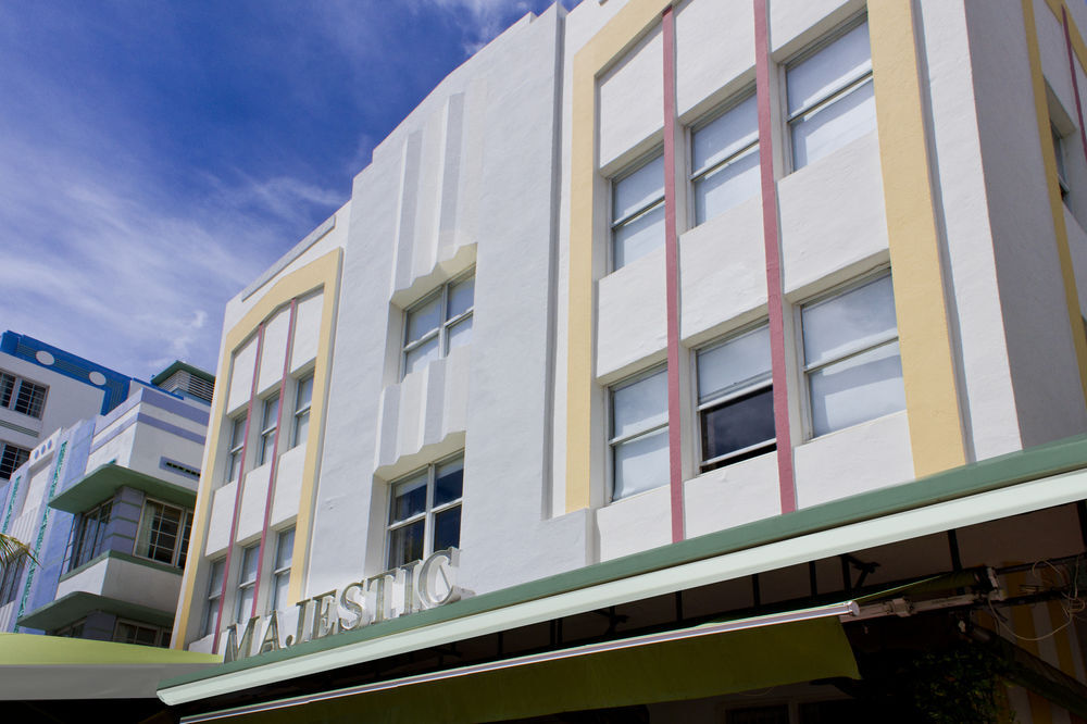
[{"label": "pale lime-green awning at the bottom left corner", "polygon": [[152,646],[0,634],[0,700],[151,698],[163,677],[221,661]]}]

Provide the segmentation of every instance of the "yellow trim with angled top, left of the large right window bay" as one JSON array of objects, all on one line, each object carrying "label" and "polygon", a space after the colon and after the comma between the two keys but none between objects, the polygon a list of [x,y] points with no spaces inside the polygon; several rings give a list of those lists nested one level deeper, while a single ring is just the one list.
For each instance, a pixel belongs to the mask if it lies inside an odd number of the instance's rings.
[{"label": "yellow trim with angled top, left of the large right window bay", "polygon": [[[596,283],[597,78],[655,23],[671,0],[630,0],[574,55],[571,96],[570,289],[566,327],[566,512],[591,504]],[[663,61],[662,61],[663,62]],[[663,120],[662,120],[663,123]],[[597,452],[597,454],[600,454]]]}]

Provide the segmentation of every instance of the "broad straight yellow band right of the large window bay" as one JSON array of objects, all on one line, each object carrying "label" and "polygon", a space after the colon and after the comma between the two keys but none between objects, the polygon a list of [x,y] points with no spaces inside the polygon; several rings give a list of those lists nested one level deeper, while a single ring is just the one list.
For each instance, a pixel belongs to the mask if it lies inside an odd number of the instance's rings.
[{"label": "broad straight yellow band right of the large window bay", "polygon": [[966,463],[919,82],[913,3],[869,3],[902,380],[917,477]]}]

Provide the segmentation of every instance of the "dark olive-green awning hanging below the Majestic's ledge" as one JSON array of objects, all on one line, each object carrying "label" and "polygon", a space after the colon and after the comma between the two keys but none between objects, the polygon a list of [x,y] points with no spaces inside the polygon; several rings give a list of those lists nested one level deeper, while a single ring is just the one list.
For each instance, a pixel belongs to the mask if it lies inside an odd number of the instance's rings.
[{"label": "dark olive-green awning hanging below the Majestic's ledge", "polygon": [[[696,699],[816,678],[859,678],[836,615],[724,633],[708,624],[422,676],[300,696],[183,721],[492,722]],[[745,622],[728,622],[744,624]]]}]

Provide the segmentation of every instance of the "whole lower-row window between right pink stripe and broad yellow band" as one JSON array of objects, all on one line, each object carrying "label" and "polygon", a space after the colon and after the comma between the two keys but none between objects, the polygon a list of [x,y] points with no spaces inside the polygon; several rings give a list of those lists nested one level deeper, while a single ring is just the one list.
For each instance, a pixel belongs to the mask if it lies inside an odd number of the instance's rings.
[{"label": "whole lower-row window between right pink stripe and broad yellow band", "polygon": [[813,435],[905,409],[890,275],[800,312]]}]

